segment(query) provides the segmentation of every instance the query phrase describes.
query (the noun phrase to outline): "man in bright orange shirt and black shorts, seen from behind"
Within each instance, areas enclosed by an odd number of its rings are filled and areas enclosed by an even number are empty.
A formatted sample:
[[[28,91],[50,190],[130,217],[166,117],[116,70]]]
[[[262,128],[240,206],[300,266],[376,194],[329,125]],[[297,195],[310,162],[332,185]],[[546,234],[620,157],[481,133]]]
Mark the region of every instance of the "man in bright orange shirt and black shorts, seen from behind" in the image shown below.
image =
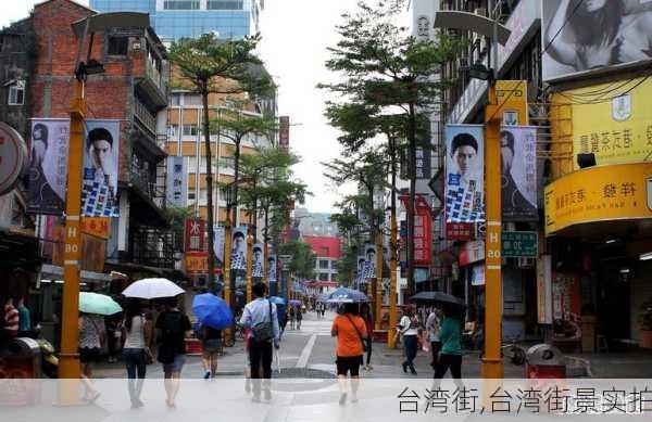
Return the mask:
[[[347,402],[347,373],[351,373],[351,402],[358,401],[360,366],[367,337],[365,322],[358,316],[358,304],[346,304],[343,312],[333,321],[330,335],[337,337],[337,378],[340,386],[340,405]]]

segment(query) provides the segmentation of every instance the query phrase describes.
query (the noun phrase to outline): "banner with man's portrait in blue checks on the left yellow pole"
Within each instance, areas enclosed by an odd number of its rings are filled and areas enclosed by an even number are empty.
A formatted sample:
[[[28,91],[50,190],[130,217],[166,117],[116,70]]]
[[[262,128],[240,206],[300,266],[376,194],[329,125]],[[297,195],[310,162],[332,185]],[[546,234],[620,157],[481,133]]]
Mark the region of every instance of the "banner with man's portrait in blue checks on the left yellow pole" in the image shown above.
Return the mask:
[[[120,120],[85,122],[82,215],[120,217],[117,165]]]

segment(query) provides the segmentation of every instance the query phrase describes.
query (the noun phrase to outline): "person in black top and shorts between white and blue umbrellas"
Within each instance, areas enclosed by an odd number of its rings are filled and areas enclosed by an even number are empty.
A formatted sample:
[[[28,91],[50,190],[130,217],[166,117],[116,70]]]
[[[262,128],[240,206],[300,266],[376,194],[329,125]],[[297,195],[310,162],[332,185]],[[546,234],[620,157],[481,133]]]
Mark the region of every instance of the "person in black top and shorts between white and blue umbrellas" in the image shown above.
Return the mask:
[[[164,385],[168,409],[176,409],[176,396],[179,393],[181,369],[186,362],[186,336],[190,336],[192,327],[186,314],[177,308],[176,297],[166,299],[165,309],[156,319],[155,329],[159,338],[159,361],[163,365]]]

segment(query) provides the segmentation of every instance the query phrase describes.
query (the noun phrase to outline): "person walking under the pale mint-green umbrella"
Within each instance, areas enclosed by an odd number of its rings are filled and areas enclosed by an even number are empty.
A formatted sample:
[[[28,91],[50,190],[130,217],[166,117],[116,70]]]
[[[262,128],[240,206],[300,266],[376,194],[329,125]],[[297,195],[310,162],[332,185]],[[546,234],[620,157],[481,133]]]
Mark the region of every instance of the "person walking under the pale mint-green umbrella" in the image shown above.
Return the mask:
[[[93,402],[100,397],[92,382],[92,365],[100,359],[102,346],[106,341],[106,329],[102,318],[89,314],[79,315],[79,361],[82,363],[82,383],[85,393],[83,401]]]

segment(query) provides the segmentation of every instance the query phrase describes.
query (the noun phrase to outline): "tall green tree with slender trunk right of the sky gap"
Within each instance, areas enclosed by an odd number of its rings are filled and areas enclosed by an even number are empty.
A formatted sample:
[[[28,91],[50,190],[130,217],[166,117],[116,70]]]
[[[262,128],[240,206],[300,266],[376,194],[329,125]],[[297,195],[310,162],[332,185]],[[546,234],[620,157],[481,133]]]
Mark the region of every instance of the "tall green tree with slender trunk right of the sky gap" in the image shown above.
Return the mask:
[[[343,23],[336,27],[341,40],[329,49],[331,59],[326,62],[326,67],[340,73],[343,80],[319,87],[339,95],[343,103],[376,107],[379,114],[398,111],[404,115],[410,178],[408,236],[412,239],[419,115],[432,113],[441,104],[441,91],[449,81],[434,75],[454,59],[464,44],[443,35],[436,41],[417,40],[409,28],[397,24],[406,2],[378,1],[368,5],[359,1],[355,14],[342,15]],[[414,245],[412,242],[408,245],[408,279],[412,292]]]

